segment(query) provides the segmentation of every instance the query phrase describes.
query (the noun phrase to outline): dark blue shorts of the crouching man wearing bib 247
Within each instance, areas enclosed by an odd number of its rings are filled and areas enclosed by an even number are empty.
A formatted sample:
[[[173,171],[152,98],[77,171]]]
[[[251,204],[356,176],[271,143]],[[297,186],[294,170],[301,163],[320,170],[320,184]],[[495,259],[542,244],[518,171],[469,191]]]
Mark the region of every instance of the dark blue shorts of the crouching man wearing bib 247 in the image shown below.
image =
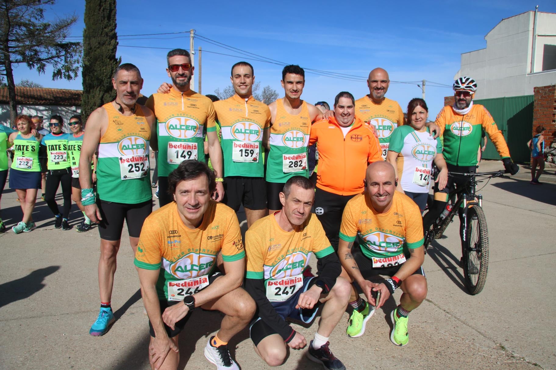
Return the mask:
[[[284,320],[287,318],[291,318],[293,320],[299,320],[304,323],[310,323],[313,321],[316,315],[316,311],[319,309],[320,302],[317,302],[313,308],[295,308],[297,306],[297,302],[299,302],[299,296],[301,293],[307,291],[310,288],[311,280],[315,278],[303,278],[303,286],[300,290],[295,292],[293,296],[288,298],[287,301],[284,302],[270,302],[272,307],[276,310],[276,313],[280,315]],[[257,346],[262,339],[266,338],[271,334],[277,334],[274,329],[272,329],[266,322],[262,320],[259,316],[255,316],[253,321],[251,321],[251,325],[249,326],[250,337],[255,346]]]

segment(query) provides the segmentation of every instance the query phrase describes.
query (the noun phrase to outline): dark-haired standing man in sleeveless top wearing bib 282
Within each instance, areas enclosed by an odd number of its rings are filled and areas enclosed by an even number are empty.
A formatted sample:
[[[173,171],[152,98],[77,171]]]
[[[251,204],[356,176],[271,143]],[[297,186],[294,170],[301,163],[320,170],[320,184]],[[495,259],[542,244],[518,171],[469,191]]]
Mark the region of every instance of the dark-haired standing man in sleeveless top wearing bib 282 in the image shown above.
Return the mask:
[[[280,192],[293,176],[309,177],[307,144],[311,124],[322,119],[322,112],[301,99],[305,87],[305,71],[299,65],[286,65],[282,70],[284,98],[269,104],[270,135],[266,163],[266,195],[269,215],[280,210]],[[314,166],[313,166],[314,167]]]

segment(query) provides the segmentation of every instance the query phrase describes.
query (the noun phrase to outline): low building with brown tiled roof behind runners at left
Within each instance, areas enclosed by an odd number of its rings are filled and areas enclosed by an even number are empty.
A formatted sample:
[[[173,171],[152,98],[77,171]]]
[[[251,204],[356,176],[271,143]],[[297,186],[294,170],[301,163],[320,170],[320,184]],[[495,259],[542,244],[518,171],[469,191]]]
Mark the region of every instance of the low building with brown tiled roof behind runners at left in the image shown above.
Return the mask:
[[[45,125],[51,115],[59,114],[69,132],[69,118],[81,114],[82,95],[81,90],[16,87],[17,114],[43,116]],[[9,125],[8,88],[0,89],[0,124]]]

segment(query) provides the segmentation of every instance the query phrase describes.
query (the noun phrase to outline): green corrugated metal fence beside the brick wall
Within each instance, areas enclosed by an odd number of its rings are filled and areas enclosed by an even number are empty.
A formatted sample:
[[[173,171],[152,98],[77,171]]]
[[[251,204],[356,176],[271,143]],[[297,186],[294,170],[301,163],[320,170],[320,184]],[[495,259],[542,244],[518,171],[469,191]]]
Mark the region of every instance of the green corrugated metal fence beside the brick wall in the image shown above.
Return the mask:
[[[498,128],[504,134],[512,159],[529,163],[531,153],[525,144],[531,138],[533,130],[533,95],[477,99],[473,100],[473,103],[484,105],[492,114]],[[483,152],[483,159],[500,159],[496,147],[490,140]]]

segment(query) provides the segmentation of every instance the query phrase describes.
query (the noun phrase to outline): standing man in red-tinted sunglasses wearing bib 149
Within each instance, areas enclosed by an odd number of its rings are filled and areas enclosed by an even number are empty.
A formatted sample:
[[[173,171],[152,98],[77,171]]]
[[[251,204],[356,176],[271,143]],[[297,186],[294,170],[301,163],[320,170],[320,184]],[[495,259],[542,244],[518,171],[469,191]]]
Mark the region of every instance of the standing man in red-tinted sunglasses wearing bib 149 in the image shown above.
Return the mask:
[[[166,85],[168,93],[152,94],[145,104],[156,116],[158,141],[158,202],[164,206],[173,200],[168,194],[168,174],[184,160],[205,162],[204,138],[208,139],[212,168],[216,171],[216,191],[213,199],[224,196],[222,185],[222,149],[216,134],[215,110],[210,98],[190,89],[195,69],[187,50],[173,49],[166,55],[166,73],[172,85]]]

